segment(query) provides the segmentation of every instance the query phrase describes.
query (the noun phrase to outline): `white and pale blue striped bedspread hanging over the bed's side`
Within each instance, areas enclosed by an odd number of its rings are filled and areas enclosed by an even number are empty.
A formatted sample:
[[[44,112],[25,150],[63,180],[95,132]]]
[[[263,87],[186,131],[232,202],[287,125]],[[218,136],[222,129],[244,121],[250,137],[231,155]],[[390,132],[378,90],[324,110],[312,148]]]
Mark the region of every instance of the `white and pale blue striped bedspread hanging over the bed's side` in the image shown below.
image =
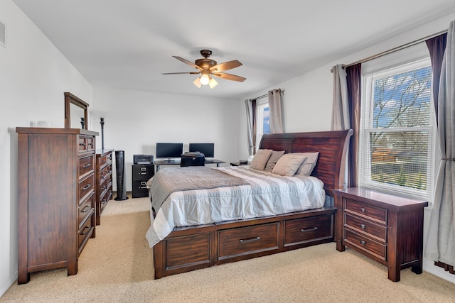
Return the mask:
[[[151,226],[146,233],[150,247],[176,226],[274,216],[324,205],[326,192],[316,177],[282,177],[249,166],[213,169],[241,177],[249,185],[173,192],[156,209],[155,218],[150,211]]]

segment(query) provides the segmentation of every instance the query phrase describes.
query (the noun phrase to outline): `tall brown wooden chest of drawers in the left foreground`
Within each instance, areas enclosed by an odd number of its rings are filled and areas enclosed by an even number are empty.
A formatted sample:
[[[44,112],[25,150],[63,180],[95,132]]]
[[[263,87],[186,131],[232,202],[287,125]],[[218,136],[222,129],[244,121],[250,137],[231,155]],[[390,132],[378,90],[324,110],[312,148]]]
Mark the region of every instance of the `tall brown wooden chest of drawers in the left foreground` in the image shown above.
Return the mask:
[[[68,268],[95,238],[95,136],[76,128],[18,133],[18,284],[30,272]]]

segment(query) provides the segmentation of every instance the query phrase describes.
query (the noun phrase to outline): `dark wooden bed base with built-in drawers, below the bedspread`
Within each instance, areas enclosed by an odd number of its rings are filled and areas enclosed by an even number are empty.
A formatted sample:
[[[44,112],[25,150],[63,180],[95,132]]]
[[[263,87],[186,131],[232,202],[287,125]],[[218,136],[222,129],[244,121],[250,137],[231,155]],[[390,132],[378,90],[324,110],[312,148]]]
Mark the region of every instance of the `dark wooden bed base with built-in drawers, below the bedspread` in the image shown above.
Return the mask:
[[[174,228],[154,246],[155,279],[333,242],[334,207]]]

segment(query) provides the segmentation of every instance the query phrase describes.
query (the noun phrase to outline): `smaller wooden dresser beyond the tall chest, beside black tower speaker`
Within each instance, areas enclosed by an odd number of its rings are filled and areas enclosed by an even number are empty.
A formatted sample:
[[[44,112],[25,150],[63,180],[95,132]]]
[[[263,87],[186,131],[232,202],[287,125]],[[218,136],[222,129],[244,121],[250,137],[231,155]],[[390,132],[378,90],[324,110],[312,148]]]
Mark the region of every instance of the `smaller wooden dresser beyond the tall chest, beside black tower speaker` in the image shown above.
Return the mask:
[[[105,209],[107,202],[112,199],[112,151],[97,150],[96,167],[96,221],[101,224],[101,213]]]

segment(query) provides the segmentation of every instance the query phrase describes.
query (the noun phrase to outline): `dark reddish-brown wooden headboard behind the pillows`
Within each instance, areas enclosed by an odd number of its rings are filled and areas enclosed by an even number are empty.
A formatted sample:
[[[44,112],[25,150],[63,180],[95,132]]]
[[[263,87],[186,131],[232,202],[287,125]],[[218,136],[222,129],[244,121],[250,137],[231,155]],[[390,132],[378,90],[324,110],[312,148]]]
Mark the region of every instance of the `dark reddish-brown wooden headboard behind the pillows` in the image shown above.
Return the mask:
[[[311,175],[324,183],[326,193],[343,188],[350,136],[348,131],[316,131],[310,133],[272,133],[262,136],[260,149],[285,150],[286,153],[319,152]]]

